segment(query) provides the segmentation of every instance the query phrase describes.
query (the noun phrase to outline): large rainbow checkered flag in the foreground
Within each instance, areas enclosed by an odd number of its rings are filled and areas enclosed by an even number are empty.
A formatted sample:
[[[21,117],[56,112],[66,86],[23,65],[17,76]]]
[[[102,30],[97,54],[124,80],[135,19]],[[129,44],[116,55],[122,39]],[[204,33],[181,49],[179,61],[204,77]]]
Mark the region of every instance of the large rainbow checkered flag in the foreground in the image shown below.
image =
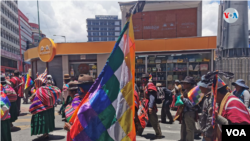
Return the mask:
[[[72,115],[73,141],[135,141],[134,73],[131,15],[101,74]]]

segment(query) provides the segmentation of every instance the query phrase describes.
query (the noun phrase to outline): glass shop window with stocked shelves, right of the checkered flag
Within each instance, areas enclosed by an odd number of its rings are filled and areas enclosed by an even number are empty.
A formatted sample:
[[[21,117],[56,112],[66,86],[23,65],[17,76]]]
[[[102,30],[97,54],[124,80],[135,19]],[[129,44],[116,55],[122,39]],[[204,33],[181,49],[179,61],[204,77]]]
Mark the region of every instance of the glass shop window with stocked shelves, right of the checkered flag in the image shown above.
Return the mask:
[[[175,80],[184,80],[192,76],[198,82],[200,77],[213,70],[212,52],[185,51],[173,53],[141,54],[136,56],[136,84],[141,87],[141,76],[152,75],[153,83],[173,88]]]

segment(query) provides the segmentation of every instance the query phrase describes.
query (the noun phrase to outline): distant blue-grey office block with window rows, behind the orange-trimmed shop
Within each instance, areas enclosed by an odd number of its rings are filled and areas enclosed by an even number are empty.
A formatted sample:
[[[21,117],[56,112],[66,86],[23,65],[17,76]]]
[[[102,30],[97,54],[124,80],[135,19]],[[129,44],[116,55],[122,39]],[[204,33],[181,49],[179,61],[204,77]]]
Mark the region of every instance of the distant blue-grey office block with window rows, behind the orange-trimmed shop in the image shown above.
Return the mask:
[[[88,42],[115,41],[121,32],[121,20],[118,16],[96,15],[87,19]]]

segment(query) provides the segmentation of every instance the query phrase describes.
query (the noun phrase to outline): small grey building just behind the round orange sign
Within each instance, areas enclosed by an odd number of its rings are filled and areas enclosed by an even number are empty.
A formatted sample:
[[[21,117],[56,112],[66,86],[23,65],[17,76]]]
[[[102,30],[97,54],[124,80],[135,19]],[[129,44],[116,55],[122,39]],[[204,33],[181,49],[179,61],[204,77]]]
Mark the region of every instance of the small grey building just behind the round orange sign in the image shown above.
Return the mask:
[[[32,43],[33,43],[33,47],[37,47],[39,45],[40,40],[42,40],[42,38],[45,38],[46,35],[42,33],[42,31],[40,30],[40,37],[41,39],[39,39],[39,26],[36,23],[29,23],[29,25],[31,26],[32,29]]]

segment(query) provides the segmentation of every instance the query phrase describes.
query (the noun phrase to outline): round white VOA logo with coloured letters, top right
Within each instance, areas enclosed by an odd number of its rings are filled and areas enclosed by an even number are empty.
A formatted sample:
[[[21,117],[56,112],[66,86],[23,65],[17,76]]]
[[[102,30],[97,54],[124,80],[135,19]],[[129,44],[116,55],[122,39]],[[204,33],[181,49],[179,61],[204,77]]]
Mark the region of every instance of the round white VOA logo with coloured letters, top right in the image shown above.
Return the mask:
[[[223,18],[228,23],[234,23],[239,18],[238,11],[234,8],[228,8],[224,11]]]

